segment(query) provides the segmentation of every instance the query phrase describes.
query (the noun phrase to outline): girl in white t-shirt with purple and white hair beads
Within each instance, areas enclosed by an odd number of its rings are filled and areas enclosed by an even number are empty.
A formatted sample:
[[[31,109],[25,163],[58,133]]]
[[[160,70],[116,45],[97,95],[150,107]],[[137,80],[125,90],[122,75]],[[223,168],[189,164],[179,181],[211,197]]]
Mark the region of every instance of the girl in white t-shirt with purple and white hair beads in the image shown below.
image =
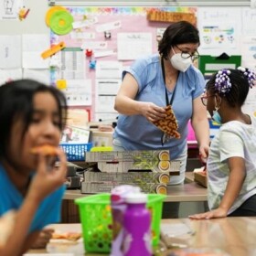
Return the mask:
[[[201,97],[213,120],[222,124],[208,155],[208,207],[190,219],[256,216],[256,118],[241,106],[256,74],[251,69],[221,69]]]

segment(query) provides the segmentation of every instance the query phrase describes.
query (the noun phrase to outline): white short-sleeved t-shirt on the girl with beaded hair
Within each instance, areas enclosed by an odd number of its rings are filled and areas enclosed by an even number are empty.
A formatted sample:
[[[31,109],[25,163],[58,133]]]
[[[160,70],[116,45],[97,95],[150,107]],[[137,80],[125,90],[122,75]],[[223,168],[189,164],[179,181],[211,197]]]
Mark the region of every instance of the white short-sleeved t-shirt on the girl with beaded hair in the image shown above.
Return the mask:
[[[224,123],[211,142],[208,155],[208,207],[219,208],[229,180],[228,158],[244,158],[246,177],[228,214],[256,194],[256,118],[251,124],[231,121]]]

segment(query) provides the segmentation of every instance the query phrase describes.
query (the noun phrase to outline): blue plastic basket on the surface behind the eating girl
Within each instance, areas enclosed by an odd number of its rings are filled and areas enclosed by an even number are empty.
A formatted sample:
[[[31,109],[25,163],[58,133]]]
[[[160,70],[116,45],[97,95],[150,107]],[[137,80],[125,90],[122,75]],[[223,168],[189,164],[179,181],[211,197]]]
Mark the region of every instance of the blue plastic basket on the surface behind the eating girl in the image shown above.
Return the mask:
[[[85,161],[85,151],[90,151],[93,144],[59,144],[67,155],[68,161]]]

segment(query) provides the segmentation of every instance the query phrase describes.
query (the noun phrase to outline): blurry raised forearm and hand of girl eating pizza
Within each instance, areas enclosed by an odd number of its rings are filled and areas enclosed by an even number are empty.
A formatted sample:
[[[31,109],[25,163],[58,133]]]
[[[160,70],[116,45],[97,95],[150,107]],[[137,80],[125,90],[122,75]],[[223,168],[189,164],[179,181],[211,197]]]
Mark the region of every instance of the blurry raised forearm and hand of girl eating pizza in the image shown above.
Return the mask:
[[[64,152],[58,149],[59,169],[49,169],[47,157],[38,155],[37,174],[28,188],[27,196],[16,212],[16,221],[12,232],[5,244],[0,247],[0,255],[16,256],[22,255],[27,249],[27,232],[35,217],[40,202],[56,188],[62,186],[67,173],[67,160]]]

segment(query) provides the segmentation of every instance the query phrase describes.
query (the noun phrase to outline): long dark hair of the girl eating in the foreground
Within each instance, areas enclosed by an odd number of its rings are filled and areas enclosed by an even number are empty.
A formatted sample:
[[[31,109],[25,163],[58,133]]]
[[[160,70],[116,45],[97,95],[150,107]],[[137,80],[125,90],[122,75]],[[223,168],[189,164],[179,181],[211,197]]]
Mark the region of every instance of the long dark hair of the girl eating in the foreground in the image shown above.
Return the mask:
[[[64,94],[53,86],[36,80],[14,80],[0,86],[0,156],[6,156],[11,130],[17,119],[24,121],[23,133],[32,120],[33,98],[37,92],[49,92],[57,101],[59,109],[59,130],[67,120],[67,101]]]

